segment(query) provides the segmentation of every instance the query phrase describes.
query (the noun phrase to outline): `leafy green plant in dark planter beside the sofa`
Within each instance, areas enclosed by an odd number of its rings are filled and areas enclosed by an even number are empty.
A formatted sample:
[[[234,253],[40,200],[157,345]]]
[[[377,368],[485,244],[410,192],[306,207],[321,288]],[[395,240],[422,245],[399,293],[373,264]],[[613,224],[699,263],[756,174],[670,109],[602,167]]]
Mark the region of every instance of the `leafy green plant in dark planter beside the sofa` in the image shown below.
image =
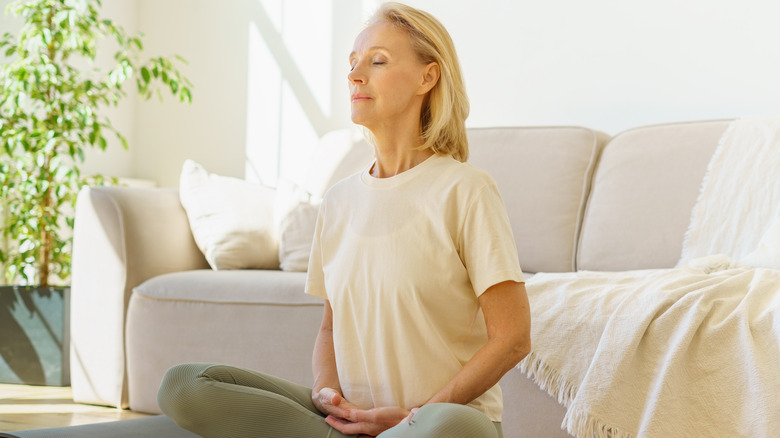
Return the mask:
[[[162,99],[163,89],[191,101],[191,83],[174,62],[183,60],[139,61],[140,36],[102,18],[100,7],[100,0],[25,0],[6,11],[24,23],[17,35],[0,38],[0,265],[14,285],[0,290],[0,355],[19,369],[31,368],[9,357],[9,333],[24,332],[10,326],[19,318],[13,312],[33,317],[43,306],[36,300],[52,297],[67,306],[67,289],[51,285],[67,285],[70,276],[76,196],[85,185],[108,182],[82,174],[84,151],[105,150],[110,135],[127,148],[105,109],[126,96],[123,84],[133,80],[146,99]],[[114,65],[105,69],[94,64],[101,39],[118,47]],[[62,312],[66,323],[67,308]],[[66,340],[59,342],[67,351]]]

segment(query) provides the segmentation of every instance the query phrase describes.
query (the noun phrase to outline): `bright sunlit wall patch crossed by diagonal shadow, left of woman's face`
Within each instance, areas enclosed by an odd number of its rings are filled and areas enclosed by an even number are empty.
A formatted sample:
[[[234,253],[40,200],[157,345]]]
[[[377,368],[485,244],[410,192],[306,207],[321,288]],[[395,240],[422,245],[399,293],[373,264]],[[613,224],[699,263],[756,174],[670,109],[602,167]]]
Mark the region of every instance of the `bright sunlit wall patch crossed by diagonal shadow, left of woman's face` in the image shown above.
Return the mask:
[[[319,137],[332,129],[333,3],[257,1],[249,23],[246,179],[300,182]]]

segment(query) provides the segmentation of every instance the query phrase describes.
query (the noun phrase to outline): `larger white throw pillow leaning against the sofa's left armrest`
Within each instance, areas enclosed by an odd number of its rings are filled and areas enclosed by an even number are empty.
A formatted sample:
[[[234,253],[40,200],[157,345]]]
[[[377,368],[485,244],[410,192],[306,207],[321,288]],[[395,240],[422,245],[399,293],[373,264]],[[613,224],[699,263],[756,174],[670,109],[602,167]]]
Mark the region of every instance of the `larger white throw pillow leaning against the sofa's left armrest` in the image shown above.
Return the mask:
[[[207,172],[187,160],[179,198],[212,269],[277,269],[275,190]]]

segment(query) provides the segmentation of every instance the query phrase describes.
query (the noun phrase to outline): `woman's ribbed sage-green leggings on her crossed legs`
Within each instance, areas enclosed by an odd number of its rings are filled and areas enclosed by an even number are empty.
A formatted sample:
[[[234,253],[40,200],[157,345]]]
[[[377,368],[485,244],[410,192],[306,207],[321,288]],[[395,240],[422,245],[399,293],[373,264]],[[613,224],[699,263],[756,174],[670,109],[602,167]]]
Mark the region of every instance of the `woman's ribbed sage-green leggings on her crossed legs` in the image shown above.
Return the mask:
[[[343,438],[325,423],[311,389],[227,365],[177,365],[165,374],[157,401],[179,426],[210,437]],[[351,436],[351,435],[350,435]],[[399,424],[381,438],[502,438],[501,423],[468,406],[424,406],[414,424]]]

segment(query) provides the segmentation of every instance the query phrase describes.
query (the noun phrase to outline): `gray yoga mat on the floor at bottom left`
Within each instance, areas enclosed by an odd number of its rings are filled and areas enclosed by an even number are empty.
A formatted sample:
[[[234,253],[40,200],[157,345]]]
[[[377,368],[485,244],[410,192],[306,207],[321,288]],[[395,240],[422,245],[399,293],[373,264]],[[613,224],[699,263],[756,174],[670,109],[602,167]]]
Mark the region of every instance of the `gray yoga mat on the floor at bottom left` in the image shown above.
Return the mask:
[[[83,426],[0,433],[0,438],[199,438],[165,415]]]

